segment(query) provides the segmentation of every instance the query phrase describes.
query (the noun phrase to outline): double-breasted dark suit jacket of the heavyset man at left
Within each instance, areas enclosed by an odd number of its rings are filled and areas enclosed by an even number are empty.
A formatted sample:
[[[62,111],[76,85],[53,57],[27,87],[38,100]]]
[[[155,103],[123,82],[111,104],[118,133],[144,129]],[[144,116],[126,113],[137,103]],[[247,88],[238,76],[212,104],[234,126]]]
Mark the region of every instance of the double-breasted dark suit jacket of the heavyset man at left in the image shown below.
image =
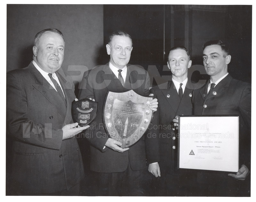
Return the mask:
[[[61,128],[73,123],[74,84],[56,72],[66,104],[35,68],[7,73],[7,129],[13,137],[12,178],[19,190],[51,193],[69,189],[84,177],[76,138],[62,141]]]

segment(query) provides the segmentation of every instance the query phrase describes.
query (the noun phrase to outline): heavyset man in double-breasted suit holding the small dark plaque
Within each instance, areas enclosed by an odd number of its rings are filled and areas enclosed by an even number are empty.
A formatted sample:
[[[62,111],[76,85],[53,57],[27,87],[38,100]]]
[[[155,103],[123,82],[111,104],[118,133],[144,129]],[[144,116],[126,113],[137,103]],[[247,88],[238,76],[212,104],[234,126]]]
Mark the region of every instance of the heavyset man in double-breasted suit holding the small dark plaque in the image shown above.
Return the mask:
[[[59,30],[38,32],[33,61],[7,73],[14,195],[79,195],[84,170],[74,136],[89,126],[72,121],[76,97],[71,77],[61,69],[64,47]]]

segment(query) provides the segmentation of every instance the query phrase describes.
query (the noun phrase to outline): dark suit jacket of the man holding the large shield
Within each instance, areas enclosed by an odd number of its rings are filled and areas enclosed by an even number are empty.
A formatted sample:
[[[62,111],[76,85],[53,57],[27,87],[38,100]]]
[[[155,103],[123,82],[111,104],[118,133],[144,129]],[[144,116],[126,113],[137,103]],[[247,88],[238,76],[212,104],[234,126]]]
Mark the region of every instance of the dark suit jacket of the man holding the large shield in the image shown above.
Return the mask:
[[[84,73],[82,83],[80,85],[79,99],[94,98],[98,102],[98,113],[91,124],[90,129],[86,130],[86,138],[91,144],[90,158],[91,170],[96,172],[123,172],[127,169],[129,160],[132,170],[142,170],[146,168],[146,146],[150,149],[147,156],[148,163],[157,161],[151,156],[153,149],[157,146],[153,139],[148,139],[145,135],[136,142],[128,151],[123,153],[113,151],[110,148],[104,148],[108,135],[103,124],[103,105],[106,94],[112,92],[125,92],[134,90],[140,95],[149,94],[149,77],[145,69],[133,65],[127,65],[127,76],[124,87],[109,68],[108,64],[101,65],[95,69]],[[93,127],[92,127],[93,126]]]

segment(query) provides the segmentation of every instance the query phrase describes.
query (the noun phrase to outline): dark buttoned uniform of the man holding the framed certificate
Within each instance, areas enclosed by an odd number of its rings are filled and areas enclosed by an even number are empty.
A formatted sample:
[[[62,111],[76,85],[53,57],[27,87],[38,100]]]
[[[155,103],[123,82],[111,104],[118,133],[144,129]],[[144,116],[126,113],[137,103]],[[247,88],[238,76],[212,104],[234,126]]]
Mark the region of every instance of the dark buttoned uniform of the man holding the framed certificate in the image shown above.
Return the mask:
[[[193,92],[195,115],[237,115],[240,114],[240,166],[245,164],[250,170],[251,162],[251,85],[226,76],[214,90],[216,95],[207,96],[209,82]],[[215,94],[215,93],[214,93]],[[215,184],[217,191],[209,189],[203,195],[247,196],[250,194],[250,178],[236,181],[227,173],[198,173],[199,183]],[[204,185],[205,186],[205,185]],[[207,185],[206,185],[207,186]],[[219,190],[218,190],[219,189]]]

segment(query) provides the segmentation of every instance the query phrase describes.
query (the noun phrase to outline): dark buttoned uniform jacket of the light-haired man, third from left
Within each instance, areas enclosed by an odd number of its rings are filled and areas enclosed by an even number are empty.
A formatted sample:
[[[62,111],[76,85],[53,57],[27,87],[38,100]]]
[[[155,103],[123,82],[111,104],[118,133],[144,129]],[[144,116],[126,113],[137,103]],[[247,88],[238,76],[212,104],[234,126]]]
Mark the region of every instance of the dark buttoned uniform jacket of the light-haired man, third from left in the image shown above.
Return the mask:
[[[178,131],[172,130],[172,119],[177,115],[192,115],[192,92],[195,88],[196,85],[188,82],[181,100],[172,81],[151,89],[158,100],[158,109],[148,133],[155,133],[160,137],[159,166],[161,172],[177,174]]]

